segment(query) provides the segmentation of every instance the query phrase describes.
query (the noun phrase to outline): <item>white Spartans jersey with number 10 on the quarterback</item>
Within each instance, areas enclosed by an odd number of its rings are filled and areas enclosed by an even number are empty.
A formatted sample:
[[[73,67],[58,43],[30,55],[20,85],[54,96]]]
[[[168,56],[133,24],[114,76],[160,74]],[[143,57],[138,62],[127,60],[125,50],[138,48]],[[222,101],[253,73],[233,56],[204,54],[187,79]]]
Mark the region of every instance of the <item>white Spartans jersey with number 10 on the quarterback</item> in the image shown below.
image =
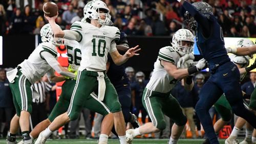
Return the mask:
[[[115,41],[120,38],[118,28],[111,26],[97,28],[91,23],[76,21],[72,24],[70,30],[76,31],[82,36],[82,39],[78,41],[82,53],[79,70],[106,70],[108,53],[117,50]]]

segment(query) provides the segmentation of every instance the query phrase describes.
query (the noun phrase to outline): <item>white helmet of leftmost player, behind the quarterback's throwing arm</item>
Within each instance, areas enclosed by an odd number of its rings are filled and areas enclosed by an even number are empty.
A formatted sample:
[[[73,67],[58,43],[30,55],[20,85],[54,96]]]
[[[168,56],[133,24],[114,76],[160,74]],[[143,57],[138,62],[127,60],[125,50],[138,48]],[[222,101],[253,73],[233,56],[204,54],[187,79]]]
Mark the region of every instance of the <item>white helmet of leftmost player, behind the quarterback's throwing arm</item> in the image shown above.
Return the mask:
[[[63,38],[55,38],[52,32],[51,26],[47,23],[40,30],[42,42],[51,42],[52,44],[59,46],[63,45]]]

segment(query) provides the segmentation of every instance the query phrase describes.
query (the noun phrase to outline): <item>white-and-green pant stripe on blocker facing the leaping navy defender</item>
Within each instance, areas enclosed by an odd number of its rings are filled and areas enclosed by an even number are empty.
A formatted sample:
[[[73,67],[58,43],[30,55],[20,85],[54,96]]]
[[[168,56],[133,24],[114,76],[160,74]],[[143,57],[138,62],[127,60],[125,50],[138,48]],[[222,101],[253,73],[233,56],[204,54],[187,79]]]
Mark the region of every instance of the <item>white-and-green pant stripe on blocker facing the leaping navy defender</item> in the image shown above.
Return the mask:
[[[146,89],[144,101],[145,101],[145,104],[146,104],[146,109],[147,109],[148,115],[150,116],[153,125],[154,125],[155,127],[157,127],[157,118],[156,118],[156,116],[154,115],[154,111],[153,111],[153,108],[152,108],[151,102],[150,102],[150,96],[151,96],[151,94],[152,94],[152,91],[149,90],[149,89]]]

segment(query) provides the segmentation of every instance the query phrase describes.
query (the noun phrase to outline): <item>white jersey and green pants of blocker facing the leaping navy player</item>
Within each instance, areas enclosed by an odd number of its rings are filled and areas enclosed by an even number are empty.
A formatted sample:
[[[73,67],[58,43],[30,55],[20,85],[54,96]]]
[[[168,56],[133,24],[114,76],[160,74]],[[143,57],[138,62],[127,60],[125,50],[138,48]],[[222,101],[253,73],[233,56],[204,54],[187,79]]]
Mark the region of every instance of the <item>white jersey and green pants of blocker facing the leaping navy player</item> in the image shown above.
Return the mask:
[[[153,125],[160,130],[166,126],[164,114],[172,118],[178,126],[183,126],[187,122],[178,101],[170,94],[178,80],[170,76],[161,65],[161,60],[177,65],[179,58],[179,54],[171,46],[160,49],[152,77],[143,91],[143,106]]]

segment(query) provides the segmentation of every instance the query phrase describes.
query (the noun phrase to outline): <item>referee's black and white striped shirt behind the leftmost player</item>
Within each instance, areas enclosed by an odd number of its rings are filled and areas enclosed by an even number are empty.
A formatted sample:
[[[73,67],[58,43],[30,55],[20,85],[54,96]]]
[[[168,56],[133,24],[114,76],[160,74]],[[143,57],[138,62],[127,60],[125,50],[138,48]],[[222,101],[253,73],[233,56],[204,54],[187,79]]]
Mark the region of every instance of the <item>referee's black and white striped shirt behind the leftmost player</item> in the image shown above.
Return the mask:
[[[48,84],[47,82],[36,82],[33,84],[34,89],[39,93],[40,97],[38,99],[38,101],[36,101],[36,99],[33,99],[32,102],[33,103],[44,103],[46,100],[46,94],[49,93],[51,91],[52,86],[50,84]]]

